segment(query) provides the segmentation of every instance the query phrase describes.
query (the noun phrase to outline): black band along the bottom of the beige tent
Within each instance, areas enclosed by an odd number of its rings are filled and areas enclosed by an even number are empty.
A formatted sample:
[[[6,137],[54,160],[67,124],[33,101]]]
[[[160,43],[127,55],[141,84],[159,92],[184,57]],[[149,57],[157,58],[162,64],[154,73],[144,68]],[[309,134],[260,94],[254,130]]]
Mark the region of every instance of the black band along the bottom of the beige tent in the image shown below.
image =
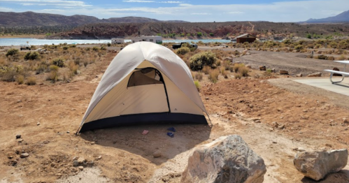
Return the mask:
[[[95,129],[106,129],[117,126],[131,126],[142,124],[208,124],[204,115],[193,115],[187,113],[145,113],[134,115],[121,115],[108,117],[83,124],[80,132]]]

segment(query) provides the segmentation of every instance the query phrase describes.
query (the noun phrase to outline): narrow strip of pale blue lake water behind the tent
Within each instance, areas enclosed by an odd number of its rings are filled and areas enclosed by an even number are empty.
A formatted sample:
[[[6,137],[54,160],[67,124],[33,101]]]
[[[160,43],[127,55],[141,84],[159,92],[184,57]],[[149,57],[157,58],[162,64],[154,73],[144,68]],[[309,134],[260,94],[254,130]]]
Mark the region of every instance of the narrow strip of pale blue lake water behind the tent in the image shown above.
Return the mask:
[[[27,41],[29,42],[29,45],[59,45],[60,43],[67,43],[67,44],[96,44],[96,43],[111,43],[110,39],[37,39],[37,38],[0,38],[0,46],[5,45],[22,45],[27,44]],[[124,40],[125,43],[131,42],[131,40]],[[219,42],[219,43],[229,43],[230,40],[223,40],[223,39],[200,39],[200,40],[189,40],[189,39],[178,39],[178,40],[163,40],[163,43],[181,43],[181,42],[193,42],[197,43],[199,41],[202,41],[204,43],[211,43],[211,42]]]

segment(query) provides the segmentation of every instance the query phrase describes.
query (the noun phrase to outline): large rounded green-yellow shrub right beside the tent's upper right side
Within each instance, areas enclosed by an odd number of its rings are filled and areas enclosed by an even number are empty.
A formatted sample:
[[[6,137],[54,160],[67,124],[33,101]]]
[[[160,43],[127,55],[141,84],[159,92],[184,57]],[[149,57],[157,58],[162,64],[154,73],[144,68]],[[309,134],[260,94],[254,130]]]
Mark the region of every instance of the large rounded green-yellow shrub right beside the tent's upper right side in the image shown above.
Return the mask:
[[[216,61],[213,52],[201,52],[190,57],[190,69],[192,71],[201,71],[204,66],[212,66]]]

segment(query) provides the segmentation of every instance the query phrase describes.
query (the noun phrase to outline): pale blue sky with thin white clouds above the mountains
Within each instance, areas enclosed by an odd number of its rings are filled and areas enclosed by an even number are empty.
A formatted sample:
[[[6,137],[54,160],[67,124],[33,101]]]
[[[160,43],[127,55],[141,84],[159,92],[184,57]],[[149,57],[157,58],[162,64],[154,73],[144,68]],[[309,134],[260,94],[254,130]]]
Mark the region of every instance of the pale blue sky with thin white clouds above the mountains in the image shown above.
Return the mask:
[[[189,22],[299,22],[338,15],[349,10],[349,0],[0,0],[0,11],[29,10],[99,18],[137,16]]]

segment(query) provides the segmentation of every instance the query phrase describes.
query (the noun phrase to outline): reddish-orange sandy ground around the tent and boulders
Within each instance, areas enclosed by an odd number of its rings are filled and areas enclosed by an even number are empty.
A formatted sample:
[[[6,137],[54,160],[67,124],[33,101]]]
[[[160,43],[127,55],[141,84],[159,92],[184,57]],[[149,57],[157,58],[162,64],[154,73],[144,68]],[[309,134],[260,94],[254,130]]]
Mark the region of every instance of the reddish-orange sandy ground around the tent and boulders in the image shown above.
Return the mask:
[[[194,147],[230,134],[242,136],[264,159],[264,182],[313,182],[294,168],[294,148],[348,148],[348,96],[281,76],[203,82],[200,94],[213,126],[123,126],[76,136],[100,75],[55,85],[0,82],[1,183],[179,182]],[[174,138],[166,136],[170,126]],[[162,156],[154,158],[155,151]],[[29,157],[21,159],[22,152]],[[73,167],[80,157],[87,162],[83,170]],[[320,182],[349,182],[348,173],[347,166]]]

